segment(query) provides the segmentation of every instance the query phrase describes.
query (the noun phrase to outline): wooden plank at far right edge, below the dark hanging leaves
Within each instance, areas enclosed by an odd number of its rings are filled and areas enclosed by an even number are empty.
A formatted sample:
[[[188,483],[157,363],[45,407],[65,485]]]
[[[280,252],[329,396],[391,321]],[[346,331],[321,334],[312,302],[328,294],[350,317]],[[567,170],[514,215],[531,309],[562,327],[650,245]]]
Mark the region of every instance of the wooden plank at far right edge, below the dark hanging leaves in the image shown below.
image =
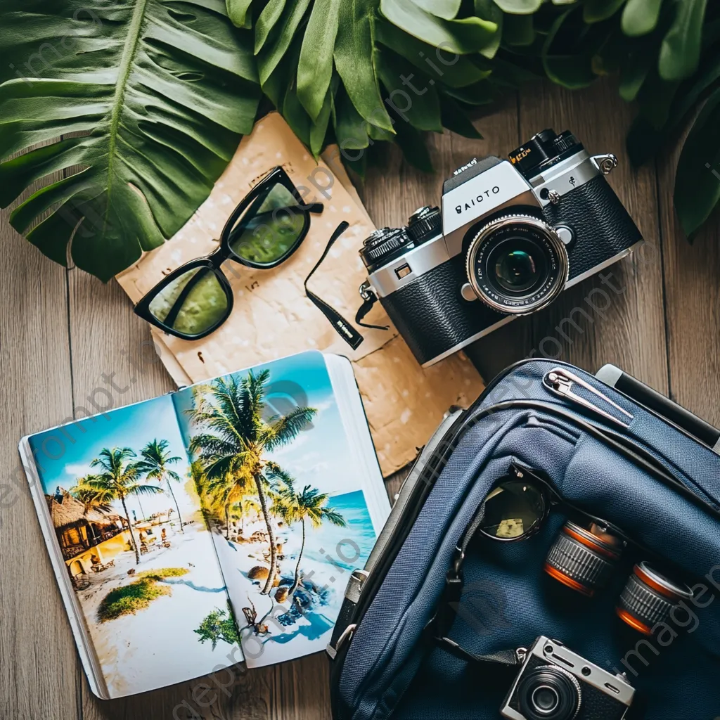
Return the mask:
[[[658,163],[670,397],[720,428],[720,218],[685,239],[672,207],[680,149]]]

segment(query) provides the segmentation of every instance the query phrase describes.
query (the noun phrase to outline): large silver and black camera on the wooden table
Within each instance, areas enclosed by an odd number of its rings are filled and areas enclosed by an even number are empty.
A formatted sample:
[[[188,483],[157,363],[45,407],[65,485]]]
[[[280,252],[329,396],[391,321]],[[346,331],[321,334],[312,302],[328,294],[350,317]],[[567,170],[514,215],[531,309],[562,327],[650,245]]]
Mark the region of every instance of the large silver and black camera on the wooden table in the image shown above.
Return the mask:
[[[423,367],[545,307],[642,242],[604,177],[616,163],[552,130],[510,161],[472,160],[444,182],[442,212],[365,240],[362,297],[380,300]]]

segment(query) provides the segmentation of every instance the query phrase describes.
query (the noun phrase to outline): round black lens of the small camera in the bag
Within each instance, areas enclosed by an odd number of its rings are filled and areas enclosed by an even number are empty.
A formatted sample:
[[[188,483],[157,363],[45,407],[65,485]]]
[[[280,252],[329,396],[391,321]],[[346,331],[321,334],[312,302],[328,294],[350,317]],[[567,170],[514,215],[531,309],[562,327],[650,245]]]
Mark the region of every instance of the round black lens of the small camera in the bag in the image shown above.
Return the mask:
[[[518,685],[518,704],[527,720],[572,720],[580,710],[580,683],[554,665],[531,670]]]

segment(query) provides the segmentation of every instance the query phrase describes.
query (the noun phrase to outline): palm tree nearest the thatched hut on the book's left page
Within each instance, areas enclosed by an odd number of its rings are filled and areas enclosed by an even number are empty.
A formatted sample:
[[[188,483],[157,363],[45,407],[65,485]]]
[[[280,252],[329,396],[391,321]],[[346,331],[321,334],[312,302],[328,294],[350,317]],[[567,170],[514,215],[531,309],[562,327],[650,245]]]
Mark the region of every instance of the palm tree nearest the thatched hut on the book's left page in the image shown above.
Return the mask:
[[[163,492],[163,489],[156,485],[145,485],[138,482],[138,470],[132,462],[136,457],[135,451],[130,448],[103,448],[99,456],[90,463],[90,466],[96,467],[99,473],[84,478],[78,492],[94,492],[98,502],[107,504],[114,500],[120,500],[127,527],[130,529],[132,549],[135,550],[135,564],[140,564],[140,551],[138,543],[135,541],[135,533],[132,531],[132,522],[127,512],[125,498],[130,495],[155,495]]]

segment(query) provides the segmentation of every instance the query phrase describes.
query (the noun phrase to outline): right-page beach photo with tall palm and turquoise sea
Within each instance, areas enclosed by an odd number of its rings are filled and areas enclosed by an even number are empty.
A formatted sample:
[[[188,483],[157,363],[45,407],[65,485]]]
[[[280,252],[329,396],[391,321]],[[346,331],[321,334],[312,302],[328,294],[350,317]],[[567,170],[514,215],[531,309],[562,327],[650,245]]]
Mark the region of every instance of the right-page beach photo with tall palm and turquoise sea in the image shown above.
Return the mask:
[[[176,394],[248,666],[324,649],[376,539],[323,356]]]

